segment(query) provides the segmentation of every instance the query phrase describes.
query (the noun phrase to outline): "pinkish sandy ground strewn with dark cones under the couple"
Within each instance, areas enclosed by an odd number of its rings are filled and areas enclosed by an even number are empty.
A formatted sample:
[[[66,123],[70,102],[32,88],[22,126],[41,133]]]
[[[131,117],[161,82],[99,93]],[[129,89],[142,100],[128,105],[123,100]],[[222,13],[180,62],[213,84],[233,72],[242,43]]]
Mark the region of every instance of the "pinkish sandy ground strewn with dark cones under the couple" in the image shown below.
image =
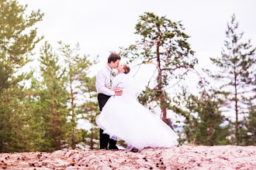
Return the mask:
[[[0,169],[256,169],[256,146],[2,153]]]

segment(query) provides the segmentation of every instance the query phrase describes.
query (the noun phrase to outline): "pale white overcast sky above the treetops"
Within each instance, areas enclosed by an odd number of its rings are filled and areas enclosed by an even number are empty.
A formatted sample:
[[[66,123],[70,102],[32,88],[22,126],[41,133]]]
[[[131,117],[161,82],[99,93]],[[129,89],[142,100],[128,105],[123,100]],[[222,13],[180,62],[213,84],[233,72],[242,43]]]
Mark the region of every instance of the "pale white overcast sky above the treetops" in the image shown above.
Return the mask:
[[[28,10],[40,9],[43,21],[36,24],[40,36],[54,47],[57,41],[74,45],[79,42],[81,53],[99,56],[100,63],[107,62],[110,51],[133,44],[135,25],[144,12],[165,15],[171,21],[182,21],[185,33],[195,56],[197,68],[212,68],[209,57],[220,56],[227,22],[237,16],[244,39],[256,44],[256,0],[19,0]],[[43,41],[44,41],[43,40]],[[40,43],[43,43],[40,42]],[[37,46],[36,50],[40,46]],[[97,68],[92,74],[97,73]],[[138,73],[143,84],[150,79],[147,69]],[[151,70],[152,71],[152,70]],[[142,78],[141,78],[142,77]]]

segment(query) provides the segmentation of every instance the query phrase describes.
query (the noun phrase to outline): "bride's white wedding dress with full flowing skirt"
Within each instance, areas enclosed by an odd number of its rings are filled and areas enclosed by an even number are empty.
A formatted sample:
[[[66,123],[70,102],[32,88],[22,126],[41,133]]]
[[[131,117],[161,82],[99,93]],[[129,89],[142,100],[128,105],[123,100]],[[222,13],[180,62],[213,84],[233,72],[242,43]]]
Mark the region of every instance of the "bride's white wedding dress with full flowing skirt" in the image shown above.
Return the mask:
[[[126,141],[138,150],[146,147],[169,148],[178,145],[178,135],[160,117],[137,101],[136,82],[132,76],[121,73],[112,87],[123,87],[122,96],[112,96],[96,117],[96,123],[109,138]]]

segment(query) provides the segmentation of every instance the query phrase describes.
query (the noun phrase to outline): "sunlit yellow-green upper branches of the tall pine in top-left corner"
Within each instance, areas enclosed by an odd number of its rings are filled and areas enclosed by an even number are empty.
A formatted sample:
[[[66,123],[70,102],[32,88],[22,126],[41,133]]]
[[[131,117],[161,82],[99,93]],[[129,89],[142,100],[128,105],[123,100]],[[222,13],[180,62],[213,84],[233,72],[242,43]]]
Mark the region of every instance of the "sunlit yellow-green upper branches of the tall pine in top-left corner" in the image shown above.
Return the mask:
[[[42,20],[43,14],[31,12],[25,15],[26,6],[12,0],[0,1],[0,92],[9,87],[8,78],[24,66],[29,59],[24,54],[34,49],[37,38],[34,25]]]

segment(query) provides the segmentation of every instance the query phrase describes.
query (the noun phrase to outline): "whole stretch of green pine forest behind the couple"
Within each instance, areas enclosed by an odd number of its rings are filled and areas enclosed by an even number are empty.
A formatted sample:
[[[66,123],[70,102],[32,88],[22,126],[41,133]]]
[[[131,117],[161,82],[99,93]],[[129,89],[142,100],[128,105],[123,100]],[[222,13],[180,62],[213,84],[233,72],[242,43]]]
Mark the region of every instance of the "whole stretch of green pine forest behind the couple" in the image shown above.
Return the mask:
[[[99,104],[95,75],[89,75],[99,59],[82,54],[79,43],[60,41],[54,48],[38,36],[38,22],[40,10],[27,15],[26,5],[0,0],[0,152],[99,149]],[[196,51],[182,22],[152,12],[138,16],[134,34],[140,39],[117,52],[138,67],[155,67],[154,86],[144,87],[138,100],[150,110],[160,108],[180,145],[256,145],[256,47],[238,28],[232,15],[223,50],[211,58],[217,69],[203,75],[195,70]],[[40,53],[33,53],[39,42]],[[37,69],[24,69],[35,59]],[[199,77],[196,94],[179,83],[191,72]],[[171,81],[178,93],[170,93]],[[182,125],[167,110],[184,117]],[[80,119],[89,130],[78,128]]]

